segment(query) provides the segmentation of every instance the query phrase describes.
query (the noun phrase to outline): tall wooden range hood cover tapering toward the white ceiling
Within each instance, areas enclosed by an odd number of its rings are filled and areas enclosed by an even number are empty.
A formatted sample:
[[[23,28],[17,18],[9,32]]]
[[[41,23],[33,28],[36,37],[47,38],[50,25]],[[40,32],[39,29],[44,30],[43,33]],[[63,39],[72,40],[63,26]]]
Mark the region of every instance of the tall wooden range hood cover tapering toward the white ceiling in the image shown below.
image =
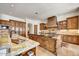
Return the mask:
[[[56,16],[52,16],[47,19],[47,27],[48,28],[57,27],[57,17]]]

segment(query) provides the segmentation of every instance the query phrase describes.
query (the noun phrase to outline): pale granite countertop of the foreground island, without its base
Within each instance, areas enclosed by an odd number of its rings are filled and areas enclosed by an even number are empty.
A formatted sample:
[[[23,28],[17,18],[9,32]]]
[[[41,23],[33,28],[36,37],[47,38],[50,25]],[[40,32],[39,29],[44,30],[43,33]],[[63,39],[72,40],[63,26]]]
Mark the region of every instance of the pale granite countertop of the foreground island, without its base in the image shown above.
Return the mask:
[[[29,38],[25,38],[22,36],[18,36],[18,38],[25,39],[25,41],[23,43],[20,43],[20,44],[12,43],[11,52],[8,55],[11,55],[11,56],[18,55],[24,51],[28,51],[28,50],[40,45],[38,42],[33,41]]]

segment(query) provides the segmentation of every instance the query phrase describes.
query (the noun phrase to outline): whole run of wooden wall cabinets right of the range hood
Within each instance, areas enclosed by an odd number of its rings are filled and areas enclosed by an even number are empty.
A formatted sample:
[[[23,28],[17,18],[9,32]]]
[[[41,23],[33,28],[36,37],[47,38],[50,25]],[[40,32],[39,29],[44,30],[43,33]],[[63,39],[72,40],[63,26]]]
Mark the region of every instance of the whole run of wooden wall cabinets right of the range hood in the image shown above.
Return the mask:
[[[58,28],[61,29],[79,29],[79,16],[68,17],[66,20],[58,22]]]

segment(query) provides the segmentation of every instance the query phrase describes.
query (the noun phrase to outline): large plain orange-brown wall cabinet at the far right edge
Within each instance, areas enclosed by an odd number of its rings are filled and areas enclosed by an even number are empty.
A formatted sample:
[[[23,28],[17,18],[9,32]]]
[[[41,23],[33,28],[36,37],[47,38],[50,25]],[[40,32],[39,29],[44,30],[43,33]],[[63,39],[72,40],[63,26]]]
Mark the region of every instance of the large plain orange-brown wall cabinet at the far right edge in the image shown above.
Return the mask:
[[[67,29],[78,29],[79,17],[69,17],[67,18]]]

